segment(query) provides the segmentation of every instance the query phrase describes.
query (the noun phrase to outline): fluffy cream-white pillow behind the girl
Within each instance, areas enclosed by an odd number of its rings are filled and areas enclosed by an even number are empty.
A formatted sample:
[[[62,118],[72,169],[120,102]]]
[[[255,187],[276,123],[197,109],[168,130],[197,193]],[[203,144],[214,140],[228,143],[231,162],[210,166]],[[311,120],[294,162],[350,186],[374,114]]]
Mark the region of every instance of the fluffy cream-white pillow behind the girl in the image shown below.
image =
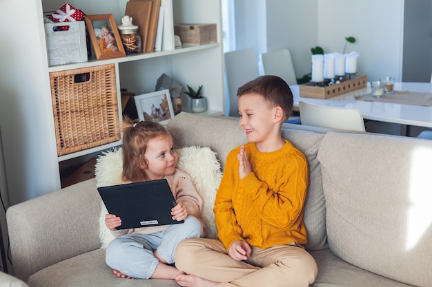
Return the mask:
[[[216,153],[208,147],[184,147],[177,149],[179,161],[177,167],[190,175],[195,183],[197,192],[201,196],[204,206],[202,219],[206,224],[208,238],[217,238],[213,204],[217,188],[222,178],[220,162]],[[103,153],[97,158],[95,176],[97,187],[106,187],[121,183],[121,148]],[[104,202],[101,201],[99,217],[99,239],[101,247],[106,247],[115,237],[105,225],[105,215],[108,213]]]

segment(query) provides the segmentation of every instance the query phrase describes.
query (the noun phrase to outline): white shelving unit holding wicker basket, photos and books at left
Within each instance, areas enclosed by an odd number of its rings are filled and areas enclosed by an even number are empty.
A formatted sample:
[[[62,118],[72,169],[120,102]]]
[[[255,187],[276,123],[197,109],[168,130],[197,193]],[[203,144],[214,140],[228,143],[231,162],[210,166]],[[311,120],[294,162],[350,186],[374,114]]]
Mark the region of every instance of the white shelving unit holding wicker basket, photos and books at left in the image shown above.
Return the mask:
[[[68,3],[90,14],[113,14],[117,25],[124,16],[127,0],[70,0]],[[163,73],[186,85],[204,85],[208,111],[224,114],[224,68],[222,16],[219,0],[162,0],[173,8],[168,23],[217,23],[219,43],[184,45],[146,54],[86,63],[48,67],[43,12],[57,10],[63,0],[2,0],[0,23],[3,29],[0,67],[0,124],[5,154],[10,204],[16,204],[61,187],[59,164],[67,160],[116,147],[121,140],[64,156],[57,156],[50,72],[115,64],[119,117],[120,89],[153,92]],[[19,19],[17,19],[17,15]],[[165,14],[165,17],[170,14]],[[167,22],[165,22],[167,23]],[[164,31],[172,33],[173,28]],[[173,35],[168,35],[173,36]],[[6,44],[6,45],[5,45]]]

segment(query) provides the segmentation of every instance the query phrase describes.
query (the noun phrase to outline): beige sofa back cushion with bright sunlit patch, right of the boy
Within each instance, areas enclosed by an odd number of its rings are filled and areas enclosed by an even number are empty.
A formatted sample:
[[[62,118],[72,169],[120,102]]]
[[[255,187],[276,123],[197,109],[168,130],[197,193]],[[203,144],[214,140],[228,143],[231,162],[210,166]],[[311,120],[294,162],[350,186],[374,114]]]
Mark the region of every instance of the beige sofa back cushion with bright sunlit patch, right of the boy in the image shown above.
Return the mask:
[[[431,286],[432,141],[331,132],[318,160],[331,250],[373,273]]]

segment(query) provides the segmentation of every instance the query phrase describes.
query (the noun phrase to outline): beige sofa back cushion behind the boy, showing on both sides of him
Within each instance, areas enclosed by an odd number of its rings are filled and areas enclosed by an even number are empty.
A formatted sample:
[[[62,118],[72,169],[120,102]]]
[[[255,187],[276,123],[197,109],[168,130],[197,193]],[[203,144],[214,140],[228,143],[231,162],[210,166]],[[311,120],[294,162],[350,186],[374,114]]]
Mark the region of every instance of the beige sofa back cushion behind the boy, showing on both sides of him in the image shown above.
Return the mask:
[[[191,129],[190,127],[193,127]],[[293,128],[296,129],[293,129]],[[222,170],[228,153],[247,142],[246,134],[239,127],[237,118],[221,118],[180,113],[168,123],[168,130],[179,147],[200,145],[218,153]],[[326,248],[326,209],[322,191],[320,164],[317,149],[327,129],[304,131],[298,125],[284,124],[282,136],[300,149],[309,164],[309,188],[304,207],[304,222],[308,230],[308,250]],[[321,132],[321,133],[320,133]]]

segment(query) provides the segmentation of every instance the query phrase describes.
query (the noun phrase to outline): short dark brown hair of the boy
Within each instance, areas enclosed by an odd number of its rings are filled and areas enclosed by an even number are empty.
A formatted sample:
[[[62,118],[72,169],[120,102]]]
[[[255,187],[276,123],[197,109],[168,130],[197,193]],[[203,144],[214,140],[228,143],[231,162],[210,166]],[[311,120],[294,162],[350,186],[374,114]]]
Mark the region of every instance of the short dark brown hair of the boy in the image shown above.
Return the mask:
[[[293,109],[293,92],[282,78],[273,75],[259,76],[237,89],[237,97],[249,93],[260,94],[271,107],[282,107],[284,121],[290,116]]]

